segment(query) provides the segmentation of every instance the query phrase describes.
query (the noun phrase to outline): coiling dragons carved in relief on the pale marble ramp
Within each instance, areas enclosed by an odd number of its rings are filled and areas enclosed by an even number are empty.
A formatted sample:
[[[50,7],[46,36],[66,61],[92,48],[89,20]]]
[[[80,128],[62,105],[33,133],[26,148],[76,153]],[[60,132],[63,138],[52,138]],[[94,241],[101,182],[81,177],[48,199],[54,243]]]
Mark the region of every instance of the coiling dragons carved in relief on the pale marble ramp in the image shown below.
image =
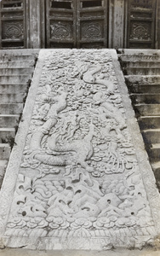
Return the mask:
[[[103,74],[100,74],[98,78],[95,77],[94,75],[96,73],[99,73],[100,70],[100,65],[98,65],[97,67],[91,66],[88,68],[88,70],[83,71],[83,75],[81,74],[81,76],[83,78],[83,81],[87,84],[105,85],[106,94],[110,95],[114,91],[115,84],[113,84],[113,82],[111,82],[110,80],[104,79]],[[52,99],[50,97],[50,90],[49,96],[45,96],[45,100],[47,99]],[[49,131],[51,131],[51,129],[54,129],[54,127],[58,123],[58,118],[60,118],[60,113],[63,113],[67,108],[67,92],[60,87],[57,90],[57,96],[54,96],[53,101],[54,104],[52,104],[49,108],[46,121],[38,131],[35,131],[32,134],[30,143],[30,163],[32,160],[34,164],[35,162],[37,162],[37,165],[43,163],[49,166],[71,166],[71,168],[72,166],[79,164],[86,171],[93,172],[94,168],[92,166],[89,166],[86,162],[86,160],[89,160],[94,154],[92,139],[94,136],[96,136],[96,127],[92,123],[92,119],[90,120],[90,124],[88,123],[88,133],[85,134],[82,139],[74,139],[73,141],[69,142],[65,141],[65,143],[60,145],[57,134],[54,133],[52,136],[49,136]],[[120,124],[121,129],[123,129],[124,124],[122,123],[122,114],[119,114],[119,116],[117,116],[117,109],[112,107],[111,104],[103,102],[102,96],[99,92],[97,92],[93,96],[93,101],[95,102],[95,104],[96,102],[100,103],[100,108],[98,108],[98,110],[92,110],[94,113],[98,112],[100,119],[103,119],[102,116],[104,116],[105,114],[105,119],[108,116],[113,117],[117,120],[117,123]],[[72,121],[73,123],[75,123],[76,119],[72,119]],[[73,128],[72,134],[70,134],[68,138],[71,138],[71,135],[74,134],[74,132],[77,130],[77,127],[78,125],[76,126],[76,128]],[[48,150],[42,149],[41,144],[44,136],[48,136]]]

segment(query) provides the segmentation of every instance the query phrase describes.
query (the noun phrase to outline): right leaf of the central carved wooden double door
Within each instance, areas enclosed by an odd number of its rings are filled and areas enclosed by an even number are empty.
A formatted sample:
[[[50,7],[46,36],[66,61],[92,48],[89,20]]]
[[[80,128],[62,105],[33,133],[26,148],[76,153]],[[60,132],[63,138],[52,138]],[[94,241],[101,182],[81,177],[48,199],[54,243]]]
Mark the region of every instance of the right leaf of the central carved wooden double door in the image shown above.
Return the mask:
[[[107,1],[77,1],[77,48],[107,47]]]

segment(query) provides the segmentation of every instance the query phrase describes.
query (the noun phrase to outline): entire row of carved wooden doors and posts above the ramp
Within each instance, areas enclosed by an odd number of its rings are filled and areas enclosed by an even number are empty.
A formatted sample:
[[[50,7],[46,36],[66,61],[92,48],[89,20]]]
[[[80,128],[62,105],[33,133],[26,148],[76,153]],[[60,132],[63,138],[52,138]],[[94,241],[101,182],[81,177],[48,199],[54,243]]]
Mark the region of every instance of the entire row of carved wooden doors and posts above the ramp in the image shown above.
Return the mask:
[[[154,49],[159,1],[0,0],[0,48]]]

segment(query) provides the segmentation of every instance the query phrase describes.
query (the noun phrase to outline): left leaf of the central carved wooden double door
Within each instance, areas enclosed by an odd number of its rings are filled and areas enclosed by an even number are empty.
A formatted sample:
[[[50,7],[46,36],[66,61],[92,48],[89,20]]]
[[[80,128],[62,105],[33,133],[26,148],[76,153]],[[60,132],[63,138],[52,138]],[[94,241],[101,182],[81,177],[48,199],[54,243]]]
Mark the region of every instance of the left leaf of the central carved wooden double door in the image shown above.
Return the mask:
[[[47,1],[47,47],[76,47],[76,4],[73,0]]]

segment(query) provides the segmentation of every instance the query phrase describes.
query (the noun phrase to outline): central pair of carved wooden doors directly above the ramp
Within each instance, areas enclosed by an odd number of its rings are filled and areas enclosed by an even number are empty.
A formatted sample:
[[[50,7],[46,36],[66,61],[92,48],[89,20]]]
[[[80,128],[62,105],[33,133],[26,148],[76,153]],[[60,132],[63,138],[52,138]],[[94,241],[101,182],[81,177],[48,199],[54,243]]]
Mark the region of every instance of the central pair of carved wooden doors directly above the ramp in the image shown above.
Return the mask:
[[[107,0],[48,0],[48,48],[107,47]]]

